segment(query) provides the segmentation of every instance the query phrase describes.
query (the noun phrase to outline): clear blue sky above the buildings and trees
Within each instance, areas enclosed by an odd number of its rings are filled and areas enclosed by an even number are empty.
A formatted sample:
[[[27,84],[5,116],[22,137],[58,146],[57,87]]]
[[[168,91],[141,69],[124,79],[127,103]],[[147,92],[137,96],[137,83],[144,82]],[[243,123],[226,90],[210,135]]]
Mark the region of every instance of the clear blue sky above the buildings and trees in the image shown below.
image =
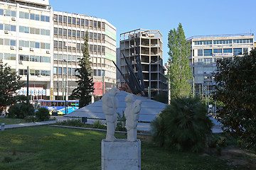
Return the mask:
[[[256,33],[256,0],[49,0],[55,11],[104,18],[119,35],[144,28],[160,30],[167,62],[169,30],[181,23],[186,38],[194,35]]]

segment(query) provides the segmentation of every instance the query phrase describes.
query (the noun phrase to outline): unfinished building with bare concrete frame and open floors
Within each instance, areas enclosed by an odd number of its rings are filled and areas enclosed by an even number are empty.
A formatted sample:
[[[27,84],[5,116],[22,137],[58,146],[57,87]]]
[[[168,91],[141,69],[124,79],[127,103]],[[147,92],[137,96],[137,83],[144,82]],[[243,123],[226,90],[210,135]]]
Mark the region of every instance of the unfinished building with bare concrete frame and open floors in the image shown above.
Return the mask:
[[[151,98],[160,92],[167,93],[163,66],[163,36],[159,30],[137,29],[122,33],[118,51],[117,65],[125,77],[128,77],[128,74],[124,56],[132,64],[135,74],[138,71],[137,57],[141,60],[146,96]],[[125,82],[119,72],[117,72],[117,81],[118,86],[122,86]]]

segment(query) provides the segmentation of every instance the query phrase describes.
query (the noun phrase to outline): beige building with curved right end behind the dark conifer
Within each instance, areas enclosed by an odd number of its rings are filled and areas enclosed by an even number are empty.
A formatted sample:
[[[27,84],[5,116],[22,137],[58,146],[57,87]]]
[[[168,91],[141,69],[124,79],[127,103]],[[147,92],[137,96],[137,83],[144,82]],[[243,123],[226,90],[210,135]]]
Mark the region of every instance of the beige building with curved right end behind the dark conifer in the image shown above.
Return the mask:
[[[53,12],[53,95],[63,99],[76,88],[75,77],[82,57],[83,38],[89,35],[90,61],[92,62],[95,96],[102,96],[116,84],[116,28],[105,19],[76,13]],[[67,79],[68,76],[68,79]],[[66,83],[68,82],[68,83]],[[104,84],[104,85],[103,85]],[[65,95],[68,87],[67,95]],[[70,99],[70,98],[69,98]]]

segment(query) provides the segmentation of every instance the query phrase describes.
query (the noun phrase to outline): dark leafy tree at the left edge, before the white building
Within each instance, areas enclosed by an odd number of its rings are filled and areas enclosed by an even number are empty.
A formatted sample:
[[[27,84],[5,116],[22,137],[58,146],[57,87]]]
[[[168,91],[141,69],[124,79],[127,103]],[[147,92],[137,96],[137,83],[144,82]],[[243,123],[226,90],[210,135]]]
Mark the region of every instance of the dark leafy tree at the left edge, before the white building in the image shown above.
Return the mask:
[[[11,67],[7,64],[0,64],[0,112],[6,106],[19,100],[16,91],[24,86],[20,79],[21,77],[16,72],[11,72]]]

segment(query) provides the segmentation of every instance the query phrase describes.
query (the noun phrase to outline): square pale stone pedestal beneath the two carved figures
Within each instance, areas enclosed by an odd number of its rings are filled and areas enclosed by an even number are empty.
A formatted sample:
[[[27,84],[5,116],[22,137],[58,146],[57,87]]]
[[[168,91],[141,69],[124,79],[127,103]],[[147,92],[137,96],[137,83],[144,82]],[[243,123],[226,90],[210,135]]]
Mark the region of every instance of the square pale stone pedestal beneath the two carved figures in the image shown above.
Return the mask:
[[[102,140],[102,170],[140,170],[141,142],[127,142],[119,139],[115,142]]]

